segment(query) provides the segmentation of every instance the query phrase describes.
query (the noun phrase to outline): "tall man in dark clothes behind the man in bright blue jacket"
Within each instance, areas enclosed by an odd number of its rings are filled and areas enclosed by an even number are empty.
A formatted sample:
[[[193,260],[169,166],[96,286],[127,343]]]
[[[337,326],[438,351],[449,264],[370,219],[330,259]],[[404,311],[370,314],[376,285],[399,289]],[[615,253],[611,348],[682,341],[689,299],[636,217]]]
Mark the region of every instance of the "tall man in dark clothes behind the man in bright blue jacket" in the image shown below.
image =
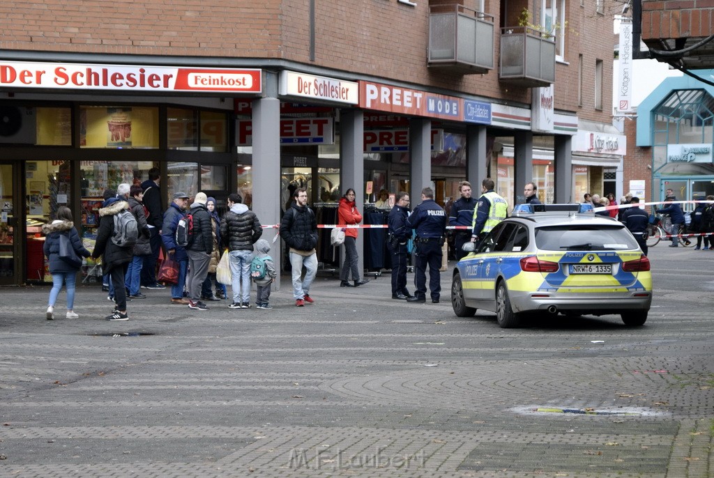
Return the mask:
[[[141,288],[143,289],[165,289],[165,287],[156,282],[156,261],[159,260],[159,250],[161,250],[161,225],[164,223],[164,203],[161,200],[161,190],[159,190],[159,168],[151,168],[149,170],[149,179],[141,183],[141,189],[144,190],[144,198],[142,202],[149,210],[149,216],[146,218],[146,223],[149,225],[151,238],[151,254],[144,258],[144,265],[141,267]]]

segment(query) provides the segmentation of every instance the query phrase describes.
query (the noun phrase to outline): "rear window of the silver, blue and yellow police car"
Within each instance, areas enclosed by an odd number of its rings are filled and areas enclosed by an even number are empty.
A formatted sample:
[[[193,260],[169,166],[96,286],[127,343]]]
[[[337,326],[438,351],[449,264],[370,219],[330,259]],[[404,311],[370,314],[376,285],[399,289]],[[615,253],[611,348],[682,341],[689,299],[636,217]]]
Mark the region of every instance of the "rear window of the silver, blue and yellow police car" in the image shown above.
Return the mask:
[[[550,225],[535,229],[540,250],[628,250],[638,244],[619,225]]]

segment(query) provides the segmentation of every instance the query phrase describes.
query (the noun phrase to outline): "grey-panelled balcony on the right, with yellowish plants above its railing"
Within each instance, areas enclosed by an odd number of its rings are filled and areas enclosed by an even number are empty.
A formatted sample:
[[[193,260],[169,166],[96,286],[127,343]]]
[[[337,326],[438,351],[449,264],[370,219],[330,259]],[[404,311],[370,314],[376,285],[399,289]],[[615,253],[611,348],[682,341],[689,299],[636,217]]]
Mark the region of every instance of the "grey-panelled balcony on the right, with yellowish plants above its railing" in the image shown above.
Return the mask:
[[[555,83],[555,35],[528,26],[501,29],[498,77],[526,88]]]

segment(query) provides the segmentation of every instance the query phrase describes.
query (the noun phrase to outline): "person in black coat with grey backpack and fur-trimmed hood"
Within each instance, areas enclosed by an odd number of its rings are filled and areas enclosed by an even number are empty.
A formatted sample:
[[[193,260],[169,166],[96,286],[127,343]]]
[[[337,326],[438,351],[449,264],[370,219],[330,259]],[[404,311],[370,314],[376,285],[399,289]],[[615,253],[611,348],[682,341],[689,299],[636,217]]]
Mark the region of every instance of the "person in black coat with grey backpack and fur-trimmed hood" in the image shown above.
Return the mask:
[[[104,207],[99,209],[99,228],[91,257],[96,259],[102,256],[102,270],[105,274],[109,273],[111,283],[114,285],[116,307],[110,315],[106,316],[106,320],[129,320],[129,315],[126,313],[124,276],[133,257],[134,244],[138,236],[139,228],[136,225],[136,218],[129,210],[129,203],[121,198],[112,197],[104,201]]]

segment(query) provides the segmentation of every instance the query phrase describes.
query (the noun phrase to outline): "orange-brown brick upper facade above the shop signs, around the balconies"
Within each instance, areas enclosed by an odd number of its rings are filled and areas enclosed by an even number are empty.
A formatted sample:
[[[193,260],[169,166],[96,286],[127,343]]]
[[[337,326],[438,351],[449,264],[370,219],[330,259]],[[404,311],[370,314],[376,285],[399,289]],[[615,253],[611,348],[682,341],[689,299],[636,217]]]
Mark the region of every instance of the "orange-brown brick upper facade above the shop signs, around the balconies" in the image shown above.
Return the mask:
[[[610,0],[611,1],[611,0]],[[443,4],[443,0],[435,0]],[[474,0],[463,1],[475,6]],[[595,0],[567,2],[565,61],[555,72],[555,108],[610,123],[612,19],[595,14]],[[529,104],[531,89],[498,81],[501,4],[486,2],[496,26],[496,68],[483,75],[430,70],[428,1],[315,1],[315,59],[310,57],[306,0],[14,0],[0,4],[0,49],[86,54],[285,59],[311,66],[433,86]],[[513,7],[517,8],[517,7]],[[531,9],[533,6],[531,5]],[[519,9],[520,11],[520,9]],[[585,55],[583,106],[578,107],[578,54]],[[603,109],[594,109],[595,60],[605,68]],[[246,66],[246,61],[236,66]],[[249,66],[249,65],[248,65]]]

